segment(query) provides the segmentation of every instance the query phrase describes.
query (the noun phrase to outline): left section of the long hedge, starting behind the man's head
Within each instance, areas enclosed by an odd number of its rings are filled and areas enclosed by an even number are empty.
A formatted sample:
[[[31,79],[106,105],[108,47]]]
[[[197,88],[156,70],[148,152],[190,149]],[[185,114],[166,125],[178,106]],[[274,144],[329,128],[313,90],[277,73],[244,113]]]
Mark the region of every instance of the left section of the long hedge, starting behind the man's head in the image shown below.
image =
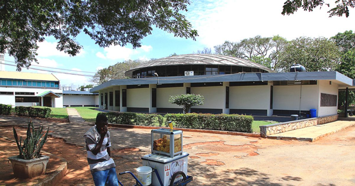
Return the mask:
[[[109,123],[125,125],[162,126],[163,116],[159,114],[142,114],[134,112],[106,112]]]

